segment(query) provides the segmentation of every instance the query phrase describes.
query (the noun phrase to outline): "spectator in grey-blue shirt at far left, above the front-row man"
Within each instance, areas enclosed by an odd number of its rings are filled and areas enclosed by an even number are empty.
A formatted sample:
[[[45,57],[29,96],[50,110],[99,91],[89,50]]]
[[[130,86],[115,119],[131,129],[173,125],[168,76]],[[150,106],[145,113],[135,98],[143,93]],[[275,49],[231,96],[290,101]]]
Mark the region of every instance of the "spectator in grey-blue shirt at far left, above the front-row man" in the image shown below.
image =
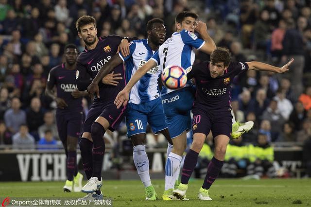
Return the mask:
[[[19,126],[26,123],[26,113],[20,109],[18,98],[12,99],[11,108],[4,113],[4,122],[10,132],[15,134]],[[28,130],[28,129],[27,129]]]

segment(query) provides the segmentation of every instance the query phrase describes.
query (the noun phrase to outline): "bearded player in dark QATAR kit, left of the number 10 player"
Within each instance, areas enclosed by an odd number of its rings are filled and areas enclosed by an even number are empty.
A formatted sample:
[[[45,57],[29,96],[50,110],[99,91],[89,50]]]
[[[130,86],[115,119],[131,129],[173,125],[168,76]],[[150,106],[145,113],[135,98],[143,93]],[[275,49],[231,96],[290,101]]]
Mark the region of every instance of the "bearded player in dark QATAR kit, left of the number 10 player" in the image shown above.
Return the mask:
[[[86,43],[85,51],[81,52],[77,58],[76,73],[78,89],[84,91],[102,66],[119,52],[118,46],[123,37],[117,35],[97,37],[96,21],[90,16],[80,17],[76,21],[76,28],[79,37]],[[124,41],[128,47],[127,40]],[[124,52],[124,50],[121,51]],[[101,173],[105,151],[103,136],[108,129],[114,131],[124,117],[125,107],[117,108],[113,104],[118,92],[125,86],[123,65],[115,67],[113,72],[114,75],[120,74],[123,80],[117,86],[99,83],[100,96],[94,98],[83,124],[83,134],[79,145],[83,168],[88,179],[86,185],[82,187],[82,191],[88,193],[84,199],[103,198],[100,190],[103,184]]]

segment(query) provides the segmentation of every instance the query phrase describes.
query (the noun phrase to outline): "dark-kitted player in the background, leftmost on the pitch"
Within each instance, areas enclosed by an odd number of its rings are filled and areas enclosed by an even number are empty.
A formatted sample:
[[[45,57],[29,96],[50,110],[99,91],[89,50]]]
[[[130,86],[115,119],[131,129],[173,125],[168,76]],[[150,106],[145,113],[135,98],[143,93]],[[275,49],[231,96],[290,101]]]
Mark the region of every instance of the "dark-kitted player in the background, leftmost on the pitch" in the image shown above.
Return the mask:
[[[77,89],[75,80],[78,49],[75,45],[65,46],[65,63],[52,68],[49,72],[46,95],[56,101],[56,124],[67,156],[67,180],[64,191],[79,192],[83,175],[77,168],[77,142],[83,123],[82,97],[86,92]],[[56,86],[56,96],[53,88]]]

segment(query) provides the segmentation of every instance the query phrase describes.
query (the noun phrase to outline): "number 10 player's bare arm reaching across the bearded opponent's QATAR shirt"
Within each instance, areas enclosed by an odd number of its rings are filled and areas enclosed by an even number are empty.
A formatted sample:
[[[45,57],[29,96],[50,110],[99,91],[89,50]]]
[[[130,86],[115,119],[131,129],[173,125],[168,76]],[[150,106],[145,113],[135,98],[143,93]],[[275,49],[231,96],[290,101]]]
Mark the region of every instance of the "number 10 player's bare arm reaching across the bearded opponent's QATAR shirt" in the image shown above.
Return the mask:
[[[95,78],[92,80],[92,83],[87,87],[87,92],[89,94],[97,94],[99,97],[99,87],[98,84],[103,80],[103,78],[108,75],[115,67],[123,63],[123,60],[119,54],[114,55],[107,64],[105,64],[100,71],[97,73]],[[117,75],[117,74],[116,74]]]

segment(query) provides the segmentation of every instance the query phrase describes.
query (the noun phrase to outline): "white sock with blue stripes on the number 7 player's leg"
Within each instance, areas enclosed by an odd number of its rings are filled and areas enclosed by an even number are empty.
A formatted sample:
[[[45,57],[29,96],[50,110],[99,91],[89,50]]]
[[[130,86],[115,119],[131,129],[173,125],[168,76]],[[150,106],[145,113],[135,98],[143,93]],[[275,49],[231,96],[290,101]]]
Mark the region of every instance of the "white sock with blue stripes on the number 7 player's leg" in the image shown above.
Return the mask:
[[[170,153],[165,165],[165,188],[164,190],[174,189],[174,184],[180,170],[181,156]]]

